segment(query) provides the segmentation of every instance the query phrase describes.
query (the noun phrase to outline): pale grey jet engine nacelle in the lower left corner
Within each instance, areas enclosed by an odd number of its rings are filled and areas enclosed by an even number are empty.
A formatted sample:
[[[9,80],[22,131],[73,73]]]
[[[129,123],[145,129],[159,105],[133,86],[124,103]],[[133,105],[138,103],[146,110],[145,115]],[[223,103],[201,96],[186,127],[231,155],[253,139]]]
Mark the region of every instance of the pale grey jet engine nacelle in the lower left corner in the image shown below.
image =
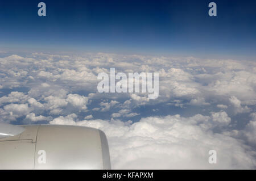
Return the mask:
[[[21,125],[0,138],[0,169],[110,169],[108,141],[99,129]]]

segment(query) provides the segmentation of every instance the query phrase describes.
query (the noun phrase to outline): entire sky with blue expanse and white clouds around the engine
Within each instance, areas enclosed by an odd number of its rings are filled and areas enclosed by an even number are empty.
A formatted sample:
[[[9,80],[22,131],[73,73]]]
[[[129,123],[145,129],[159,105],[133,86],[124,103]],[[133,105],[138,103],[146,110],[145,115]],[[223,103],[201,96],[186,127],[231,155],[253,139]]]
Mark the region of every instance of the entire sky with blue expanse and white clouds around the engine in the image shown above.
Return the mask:
[[[112,169],[256,169],[255,1],[44,2],[0,1],[0,123],[101,129]],[[111,68],[158,98],[100,93]]]

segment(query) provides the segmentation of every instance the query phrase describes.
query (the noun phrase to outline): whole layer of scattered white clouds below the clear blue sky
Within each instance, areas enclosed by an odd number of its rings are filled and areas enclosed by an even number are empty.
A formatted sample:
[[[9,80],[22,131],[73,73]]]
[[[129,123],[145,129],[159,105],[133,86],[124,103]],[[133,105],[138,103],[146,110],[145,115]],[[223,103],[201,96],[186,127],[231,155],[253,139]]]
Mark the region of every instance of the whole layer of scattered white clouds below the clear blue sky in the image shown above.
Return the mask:
[[[254,61],[105,53],[1,57],[1,121],[102,129],[113,169],[256,168]],[[158,99],[99,93],[97,75],[110,68],[158,72]],[[216,150],[216,164],[208,162],[209,150]]]

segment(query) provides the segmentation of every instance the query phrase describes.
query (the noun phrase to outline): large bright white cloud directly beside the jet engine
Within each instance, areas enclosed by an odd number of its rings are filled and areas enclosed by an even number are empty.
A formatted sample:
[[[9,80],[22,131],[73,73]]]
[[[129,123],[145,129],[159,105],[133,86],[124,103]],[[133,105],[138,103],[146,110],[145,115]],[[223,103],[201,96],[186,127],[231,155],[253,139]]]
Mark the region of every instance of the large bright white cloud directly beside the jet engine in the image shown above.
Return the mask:
[[[200,115],[201,118],[208,117]],[[226,123],[225,113],[213,121]],[[242,142],[221,133],[205,131],[196,117],[145,117],[137,123],[119,120],[55,119],[102,129],[108,136],[113,169],[253,169],[256,163]],[[217,151],[217,164],[208,163],[208,151]]]

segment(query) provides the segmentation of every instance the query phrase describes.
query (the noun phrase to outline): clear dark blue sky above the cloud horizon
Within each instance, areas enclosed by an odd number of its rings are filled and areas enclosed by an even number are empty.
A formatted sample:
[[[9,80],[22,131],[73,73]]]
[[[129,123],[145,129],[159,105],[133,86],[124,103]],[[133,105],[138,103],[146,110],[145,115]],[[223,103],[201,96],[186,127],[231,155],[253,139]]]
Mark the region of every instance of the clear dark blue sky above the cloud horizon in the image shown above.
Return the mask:
[[[0,47],[255,57],[255,9],[256,1],[1,0]]]

